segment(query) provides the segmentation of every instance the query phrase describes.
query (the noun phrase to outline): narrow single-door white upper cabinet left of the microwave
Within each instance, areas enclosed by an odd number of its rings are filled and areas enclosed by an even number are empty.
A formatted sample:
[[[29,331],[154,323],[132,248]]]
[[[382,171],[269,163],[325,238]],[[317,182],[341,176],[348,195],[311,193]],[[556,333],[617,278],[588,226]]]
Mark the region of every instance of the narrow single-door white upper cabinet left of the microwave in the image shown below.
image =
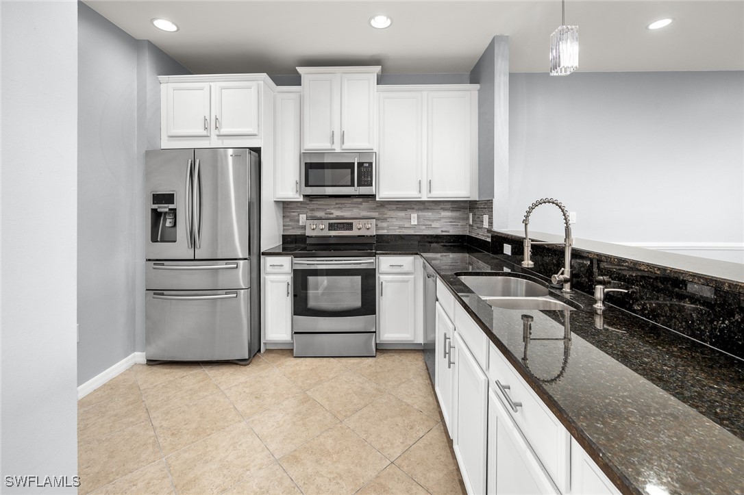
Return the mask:
[[[274,125],[274,199],[299,201],[300,88],[278,88]]]

